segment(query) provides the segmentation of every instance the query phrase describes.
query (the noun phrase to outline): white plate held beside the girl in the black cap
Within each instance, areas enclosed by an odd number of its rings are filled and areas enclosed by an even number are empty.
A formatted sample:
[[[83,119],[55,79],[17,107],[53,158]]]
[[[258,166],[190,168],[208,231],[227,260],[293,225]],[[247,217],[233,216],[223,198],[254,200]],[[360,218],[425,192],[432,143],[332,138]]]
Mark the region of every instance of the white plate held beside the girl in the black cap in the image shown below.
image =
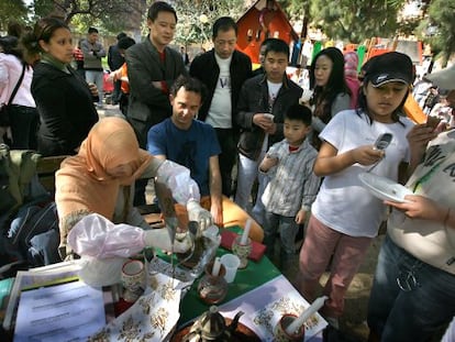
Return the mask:
[[[358,175],[362,184],[367,188],[374,196],[395,202],[407,202],[404,199],[406,195],[412,195],[413,192],[389,178],[381,177],[375,174],[363,173]]]

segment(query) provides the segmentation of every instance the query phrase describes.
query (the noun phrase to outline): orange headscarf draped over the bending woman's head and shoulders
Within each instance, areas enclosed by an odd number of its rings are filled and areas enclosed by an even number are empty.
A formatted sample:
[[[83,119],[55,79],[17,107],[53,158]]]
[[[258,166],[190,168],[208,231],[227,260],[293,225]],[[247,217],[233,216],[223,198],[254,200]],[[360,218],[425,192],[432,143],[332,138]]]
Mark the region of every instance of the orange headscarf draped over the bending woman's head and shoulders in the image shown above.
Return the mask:
[[[152,158],[140,148],[134,131],[125,120],[100,120],[82,142],[79,153],[66,158],[56,173],[55,201],[59,218],[90,211],[112,220],[120,186],[133,184]],[[122,164],[132,166],[132,175],[116,178],[107,173]]]

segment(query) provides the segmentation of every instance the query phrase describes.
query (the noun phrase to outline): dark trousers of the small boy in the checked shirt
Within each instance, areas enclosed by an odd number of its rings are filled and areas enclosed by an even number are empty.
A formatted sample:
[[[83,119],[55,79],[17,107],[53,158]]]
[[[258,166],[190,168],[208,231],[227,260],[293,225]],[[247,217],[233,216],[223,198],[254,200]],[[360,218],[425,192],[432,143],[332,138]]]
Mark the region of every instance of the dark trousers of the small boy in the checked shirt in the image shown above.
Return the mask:
[[[289,258],[296,254],[295,240],[299,230],[296,217],[284,217],[273,212],[266,212],[264,224],[264,244],[267,246],[267,255],[273,255],[276,233],[280,236],[280,256]]]

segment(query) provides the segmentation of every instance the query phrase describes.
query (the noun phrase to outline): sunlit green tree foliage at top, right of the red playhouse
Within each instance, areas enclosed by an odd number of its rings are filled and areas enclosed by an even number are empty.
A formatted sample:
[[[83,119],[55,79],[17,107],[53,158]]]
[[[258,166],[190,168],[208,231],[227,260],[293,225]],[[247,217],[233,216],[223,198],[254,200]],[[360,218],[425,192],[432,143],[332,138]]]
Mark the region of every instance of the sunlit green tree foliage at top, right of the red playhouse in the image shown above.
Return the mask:
[[[313,23],[332,38],[362,43],[373,36],[395,35],[398,11],[406,0],[312,0]]]

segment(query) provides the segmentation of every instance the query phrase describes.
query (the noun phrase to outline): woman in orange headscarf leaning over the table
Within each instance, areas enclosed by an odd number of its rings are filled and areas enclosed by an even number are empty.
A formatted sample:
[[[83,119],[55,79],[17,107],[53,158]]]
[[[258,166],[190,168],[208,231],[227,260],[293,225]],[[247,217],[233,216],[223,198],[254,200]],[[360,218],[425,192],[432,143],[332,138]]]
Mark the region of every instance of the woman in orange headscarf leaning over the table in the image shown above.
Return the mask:
[[[73,253],[67,246],[68,232],[89,213],[99,213],[113,223],[148,229],[149,225],[133,207],[135,179],[162,176],[171,188],[171,183],[176,183],[171,178],[176,175],[181,177],[186,170],[141,150],[133,129],[125,120],[106,118],[99,121],[82,142],[79,153],[66,158],[56,173],[55,202],[59,217],[60,256],[65,258]],[[199,189],[191,178],[185,179],[184,188],[188,188],[188,191],[181,191],[181,184],[178,186],[178,191],[170,189],[179,192],[176,200],[182,203],[199,202]],[[200,218],[210,216],[200,207],[198,210]]]

